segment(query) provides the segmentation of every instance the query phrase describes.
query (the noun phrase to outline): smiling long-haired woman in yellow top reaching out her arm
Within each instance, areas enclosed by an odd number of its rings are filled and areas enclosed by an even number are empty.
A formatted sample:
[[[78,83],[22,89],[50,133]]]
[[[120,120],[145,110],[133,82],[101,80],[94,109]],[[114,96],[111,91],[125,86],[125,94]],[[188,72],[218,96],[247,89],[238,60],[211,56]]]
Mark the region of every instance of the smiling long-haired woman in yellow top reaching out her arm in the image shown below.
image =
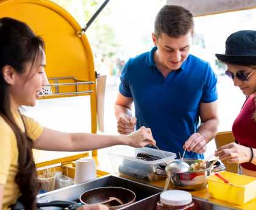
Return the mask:
[[[21,105],[35,106],[44,79],[44,42],[20,21],[0,19],[0,210],[21,196],[26,209],[36,209],[37,171],[32,148],[52,151],[87,151],[113,145],[155,145],[149,128],[131,135],[106,136],[64,133],[41,127],[19,112]],[[145,140],[148,141],[145,141]],[[88,205],[82,209],[108,209]]]

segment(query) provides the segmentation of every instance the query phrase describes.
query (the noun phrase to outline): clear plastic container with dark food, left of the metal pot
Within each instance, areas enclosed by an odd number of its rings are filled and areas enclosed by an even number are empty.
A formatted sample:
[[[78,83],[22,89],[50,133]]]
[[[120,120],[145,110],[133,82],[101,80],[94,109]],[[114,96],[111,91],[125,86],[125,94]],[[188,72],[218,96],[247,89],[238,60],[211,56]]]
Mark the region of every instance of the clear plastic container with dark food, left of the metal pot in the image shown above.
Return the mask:
[[[171,161],[176,158],[176,153],[162,151]],[[148,153],[149,155],[158,156],[162,159],[157,161],[144,161],[136,159],[138,153]],[[148,183],[163,180],[165,175],[157,175],[154,173],[154,166],[168,162],[163,154],[157,149],[148,147],[134,148],[129,146],[119,147],[115,150],[108,151],[110,161],[115,173],[126,175],[127,177],[137,178]]]

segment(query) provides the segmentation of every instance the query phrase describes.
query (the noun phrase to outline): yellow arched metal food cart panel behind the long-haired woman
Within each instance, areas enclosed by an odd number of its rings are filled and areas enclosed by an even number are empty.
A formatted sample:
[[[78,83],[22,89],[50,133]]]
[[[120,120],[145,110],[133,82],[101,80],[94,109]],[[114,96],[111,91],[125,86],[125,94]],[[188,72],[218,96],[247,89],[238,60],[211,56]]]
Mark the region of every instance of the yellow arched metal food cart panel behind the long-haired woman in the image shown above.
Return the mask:
[[[90,85],[90,90],[93,91],[90,94],[91,133],[96,133],[96,72],[93,53],[85,33],[80,38],[76,35],[81,27],[73,16],[48,0],[0,0],[0,18],[3,17],[23,21],[36,35],[44,39],[47,77],[76,77],[77,80],[94,82]],[[59,83],[64,82],[74,82],[74,80],[59,81]],[[54,80],[49,80],[49,83],[54,83]],[[84,88],[84,85],[79,85],[79,91],[84,91]],[[54,91],[54,88],[52,90]],[[76,86],[61,86],[59,90],[60,93],[73,92],[76,91]],[[88,94],[73,96],[85,95]],[[97,150],[92,154],[96,156]]]

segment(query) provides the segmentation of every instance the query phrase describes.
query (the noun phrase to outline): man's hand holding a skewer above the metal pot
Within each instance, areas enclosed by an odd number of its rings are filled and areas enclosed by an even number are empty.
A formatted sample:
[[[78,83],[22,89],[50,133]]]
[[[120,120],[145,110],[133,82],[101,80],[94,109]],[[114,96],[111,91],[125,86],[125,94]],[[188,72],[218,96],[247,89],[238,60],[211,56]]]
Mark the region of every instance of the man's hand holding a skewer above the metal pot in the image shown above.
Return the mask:
[[[183,149],[187,149],[188,152],[196,152],[198,154],[203,154],[206,151],[206,144],[204,137],[199,133],[194,133],[188,141],[183,145]]]

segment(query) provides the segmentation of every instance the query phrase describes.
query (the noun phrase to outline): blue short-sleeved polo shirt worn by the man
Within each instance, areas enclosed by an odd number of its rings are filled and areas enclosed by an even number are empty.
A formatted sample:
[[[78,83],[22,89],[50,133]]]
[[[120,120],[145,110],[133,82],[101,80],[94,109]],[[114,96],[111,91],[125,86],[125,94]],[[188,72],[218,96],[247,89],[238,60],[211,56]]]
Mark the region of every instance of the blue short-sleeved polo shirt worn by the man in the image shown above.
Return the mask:
[[[167,77],[157,69],[150,52],[130,58],[121,72],[119,92],[133,97],[136,129],[151,128],[160,150],[183,154],[183,145],[199,127],[200,103],[218,99],[217,77],[210,64],[188,55],[180,69]],[[185,158],[204,158],[186,152]]]

